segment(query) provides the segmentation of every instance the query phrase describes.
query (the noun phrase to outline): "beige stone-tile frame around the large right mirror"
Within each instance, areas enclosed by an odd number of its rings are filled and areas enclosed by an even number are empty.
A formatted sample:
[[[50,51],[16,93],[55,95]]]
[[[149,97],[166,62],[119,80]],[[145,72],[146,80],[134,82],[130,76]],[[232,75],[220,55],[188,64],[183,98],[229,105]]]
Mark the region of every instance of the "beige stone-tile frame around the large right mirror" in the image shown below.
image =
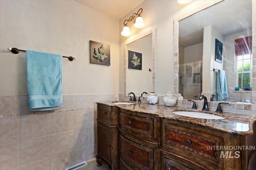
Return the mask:
[[[187,12],[174,20],[174,95],[178,98],[179,93],[179,21],[196,14],[210,6],[221,3],[222,0],[210,1],[203,6],[200,6],[190,12]],[[226,108],[229,109],[240,109],[240,110],[251,110],[256,111],[256,1],[252,0],[252,104],[239,104],[239,103],[230,103]],[[191,102],[188,100],[178,100],[178,104],[188,104]],[[202,103],[202,102],[201,102]],[[211,103],[211,102],[210,102]],[[217,106],[218,102],[212,102],[209,104],[210,107]],[[225,108],[225,106],[224,106]]]

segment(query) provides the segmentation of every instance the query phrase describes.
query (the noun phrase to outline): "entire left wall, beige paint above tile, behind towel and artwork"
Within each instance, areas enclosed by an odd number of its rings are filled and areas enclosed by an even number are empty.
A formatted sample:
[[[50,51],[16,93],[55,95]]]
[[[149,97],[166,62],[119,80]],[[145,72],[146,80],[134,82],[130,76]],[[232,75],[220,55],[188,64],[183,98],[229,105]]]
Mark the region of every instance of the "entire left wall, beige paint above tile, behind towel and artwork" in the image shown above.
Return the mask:
[[[73,0],[0,1],[1,170],[63,170],[95,158],[95,102],[119,93],[118,26]],[[110,45],[110,66],[90,64],[90,40]],[[28,111],[26,53],[7,47],[77,58],[63,58],[61,109]]]

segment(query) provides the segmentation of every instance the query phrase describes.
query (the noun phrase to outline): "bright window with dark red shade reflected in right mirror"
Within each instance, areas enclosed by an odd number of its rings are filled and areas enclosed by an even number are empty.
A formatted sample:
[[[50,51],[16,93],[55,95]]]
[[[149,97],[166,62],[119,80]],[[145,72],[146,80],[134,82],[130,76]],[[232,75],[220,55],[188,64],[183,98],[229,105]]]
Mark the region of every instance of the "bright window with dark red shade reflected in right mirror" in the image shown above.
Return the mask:
[[[235,40],[236,87],[250,88],[252,82],[252,37]]]

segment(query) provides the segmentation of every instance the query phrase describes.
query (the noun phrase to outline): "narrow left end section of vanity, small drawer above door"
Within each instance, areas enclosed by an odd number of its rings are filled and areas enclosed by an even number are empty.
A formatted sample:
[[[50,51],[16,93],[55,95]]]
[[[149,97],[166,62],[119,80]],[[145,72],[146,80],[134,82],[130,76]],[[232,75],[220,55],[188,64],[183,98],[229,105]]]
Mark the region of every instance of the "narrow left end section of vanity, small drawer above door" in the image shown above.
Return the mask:
[[[97,104],[98,166],[119,169],[118,107]]]

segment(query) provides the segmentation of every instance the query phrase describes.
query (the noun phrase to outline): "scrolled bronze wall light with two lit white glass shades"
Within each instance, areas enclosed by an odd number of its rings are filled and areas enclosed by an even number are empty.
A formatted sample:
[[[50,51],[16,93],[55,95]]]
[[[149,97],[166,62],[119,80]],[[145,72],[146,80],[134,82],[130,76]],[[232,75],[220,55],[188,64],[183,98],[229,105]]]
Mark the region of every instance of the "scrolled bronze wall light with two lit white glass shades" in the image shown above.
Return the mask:
[[[133,13],[132,16],[129,17],[128,20],[124,20],[124,28],[123,31],[121,32],[121,35],[127,37],[130,36],[132,33],[130,31],[130,28],[127,26],[127,23],[129,21],[133,21],[134,22],[134,27],[135,28],[142,28],[145,26],[144,22],[143,22],[143,18],[140,16],[140,14],[142,13],[143,9],[140,8],[138,10],[137,13]]]

